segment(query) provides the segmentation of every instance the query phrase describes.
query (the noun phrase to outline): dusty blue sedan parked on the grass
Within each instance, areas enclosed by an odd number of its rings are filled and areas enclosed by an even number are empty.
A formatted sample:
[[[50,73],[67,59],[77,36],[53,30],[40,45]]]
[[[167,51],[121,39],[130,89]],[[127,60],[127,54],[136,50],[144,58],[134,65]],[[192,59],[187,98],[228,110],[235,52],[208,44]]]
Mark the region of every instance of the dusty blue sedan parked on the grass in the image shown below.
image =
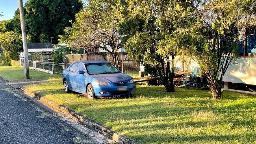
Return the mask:
[[[87,94],[89,99],[97,97],[132,95],[134,79],[122,74],[108,61],[77,61],[63,70],[65,92]]]

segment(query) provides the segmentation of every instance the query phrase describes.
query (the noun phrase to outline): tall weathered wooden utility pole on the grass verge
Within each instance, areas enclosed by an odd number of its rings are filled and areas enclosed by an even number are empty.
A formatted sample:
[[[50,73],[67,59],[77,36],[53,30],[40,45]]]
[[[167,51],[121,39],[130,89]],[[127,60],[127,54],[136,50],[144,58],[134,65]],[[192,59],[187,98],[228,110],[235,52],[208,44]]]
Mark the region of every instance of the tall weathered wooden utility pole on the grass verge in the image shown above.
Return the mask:
[[[23,43],[24,72],[25,72],[25,79],[29,79],[28,43],[27,43],[27,35],[26,35],[26,28],[25,28],[25,16],[24,16],[22,0],[19,0],[19,9],[20,9],[20,26],[21,26],[22,43]]]

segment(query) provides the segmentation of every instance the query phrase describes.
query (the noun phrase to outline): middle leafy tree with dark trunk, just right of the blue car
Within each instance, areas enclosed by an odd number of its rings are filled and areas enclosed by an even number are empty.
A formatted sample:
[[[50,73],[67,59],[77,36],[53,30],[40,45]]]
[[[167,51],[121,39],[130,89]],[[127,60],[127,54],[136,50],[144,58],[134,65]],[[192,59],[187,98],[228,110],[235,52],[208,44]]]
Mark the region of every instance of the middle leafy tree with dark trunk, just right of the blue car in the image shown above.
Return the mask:
[[[174,92],[174,58],[182,51],[182,34],[191,20],[193,1],[127,0],[122,9],[125,50],[167,92]]]

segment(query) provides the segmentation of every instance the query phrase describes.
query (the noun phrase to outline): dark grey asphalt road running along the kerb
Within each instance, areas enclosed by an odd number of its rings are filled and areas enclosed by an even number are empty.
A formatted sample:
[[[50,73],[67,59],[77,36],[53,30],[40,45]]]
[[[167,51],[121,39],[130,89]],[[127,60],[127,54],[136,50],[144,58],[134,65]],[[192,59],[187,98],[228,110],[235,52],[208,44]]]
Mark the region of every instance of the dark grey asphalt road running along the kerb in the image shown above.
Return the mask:
[[[97,132],[77,123],[72,126],[64,119],[0,80],[0,144],[112,143]]]

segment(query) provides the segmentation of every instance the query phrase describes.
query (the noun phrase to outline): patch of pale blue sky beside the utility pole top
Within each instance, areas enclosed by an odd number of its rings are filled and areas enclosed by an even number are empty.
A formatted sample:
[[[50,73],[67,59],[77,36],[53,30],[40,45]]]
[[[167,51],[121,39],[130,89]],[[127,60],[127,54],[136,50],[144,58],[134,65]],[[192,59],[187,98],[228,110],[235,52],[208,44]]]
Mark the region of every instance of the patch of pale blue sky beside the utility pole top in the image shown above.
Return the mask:
[[[23,0],[23,5],[28,0]],[[19,0],[0,0],[0,13],[3,12],[0,21],[13,18],[14,12],[19,8]]]

